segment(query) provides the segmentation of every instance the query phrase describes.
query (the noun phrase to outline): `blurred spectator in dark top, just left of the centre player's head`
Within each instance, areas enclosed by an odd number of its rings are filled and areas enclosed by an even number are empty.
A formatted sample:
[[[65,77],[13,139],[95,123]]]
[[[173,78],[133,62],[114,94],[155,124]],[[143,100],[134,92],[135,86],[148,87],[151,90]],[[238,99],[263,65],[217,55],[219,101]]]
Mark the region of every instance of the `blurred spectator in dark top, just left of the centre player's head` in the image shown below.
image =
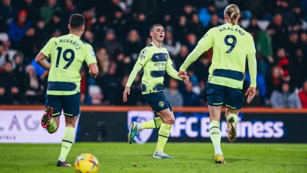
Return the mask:
[[[143,48],[142,40],[137,30],[135,29],[130,30],[126,38],[126,44],[124,48],[125,48],[125,54],[127,56],[130,56],[133,62],[136,62],[138,60],[140,51]]]

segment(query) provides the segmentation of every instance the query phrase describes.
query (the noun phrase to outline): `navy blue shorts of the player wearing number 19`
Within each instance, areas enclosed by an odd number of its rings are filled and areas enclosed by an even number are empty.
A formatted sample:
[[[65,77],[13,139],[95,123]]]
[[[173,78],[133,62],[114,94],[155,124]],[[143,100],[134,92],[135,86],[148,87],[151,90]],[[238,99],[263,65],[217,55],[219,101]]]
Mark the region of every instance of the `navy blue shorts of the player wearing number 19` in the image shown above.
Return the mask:
[[[53,117],[61,115],[74,117],[80,114],[80,93],[74,95],[46,95],[46,107],[53,108]]]

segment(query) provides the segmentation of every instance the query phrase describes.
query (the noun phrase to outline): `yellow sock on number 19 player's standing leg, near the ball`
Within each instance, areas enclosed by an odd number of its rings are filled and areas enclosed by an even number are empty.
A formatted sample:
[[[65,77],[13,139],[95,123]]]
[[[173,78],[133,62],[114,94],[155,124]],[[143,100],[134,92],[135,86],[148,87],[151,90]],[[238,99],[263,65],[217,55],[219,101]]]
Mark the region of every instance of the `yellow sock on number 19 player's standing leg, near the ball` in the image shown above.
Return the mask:
[[[62,149],[61,149],[61,153],[59,157],[59,160],[61,162],[66,161],[66,157],[70,151],[70,148],[72,147],[72,143],[75,139],[75,135],[76,135],[75,128],[66,127],[64,136],[62,138]]]

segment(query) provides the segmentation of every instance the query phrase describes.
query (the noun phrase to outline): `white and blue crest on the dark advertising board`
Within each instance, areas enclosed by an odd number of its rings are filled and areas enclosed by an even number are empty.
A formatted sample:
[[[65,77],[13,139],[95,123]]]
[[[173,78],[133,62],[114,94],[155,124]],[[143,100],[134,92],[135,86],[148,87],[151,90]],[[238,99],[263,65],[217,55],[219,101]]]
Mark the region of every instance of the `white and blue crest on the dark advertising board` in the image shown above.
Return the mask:
[[[153,111],[129,111],[128,112],[128,119],[127,119],[127,132],[129,132],[129,124],[133,121],[138,123],[143,123],[149,121],[154,118]],[[153,133],[153,129],[143,129],[142,131],[138,132],[133,139],[136,143],[143,144],[148,141],[151,134]]]

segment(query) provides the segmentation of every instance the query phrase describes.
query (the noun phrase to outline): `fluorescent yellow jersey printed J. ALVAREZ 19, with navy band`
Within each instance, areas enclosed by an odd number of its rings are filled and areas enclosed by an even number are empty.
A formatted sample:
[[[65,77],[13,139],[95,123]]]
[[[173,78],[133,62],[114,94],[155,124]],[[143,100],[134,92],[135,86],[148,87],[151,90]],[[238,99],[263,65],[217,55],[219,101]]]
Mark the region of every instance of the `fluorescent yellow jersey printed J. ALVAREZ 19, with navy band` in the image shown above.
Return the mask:
[[[74,95],[80,92],[82,63],[97,63],[92,46],[74,34],[51,38],[41,52],[51,57],[48,95]]]

